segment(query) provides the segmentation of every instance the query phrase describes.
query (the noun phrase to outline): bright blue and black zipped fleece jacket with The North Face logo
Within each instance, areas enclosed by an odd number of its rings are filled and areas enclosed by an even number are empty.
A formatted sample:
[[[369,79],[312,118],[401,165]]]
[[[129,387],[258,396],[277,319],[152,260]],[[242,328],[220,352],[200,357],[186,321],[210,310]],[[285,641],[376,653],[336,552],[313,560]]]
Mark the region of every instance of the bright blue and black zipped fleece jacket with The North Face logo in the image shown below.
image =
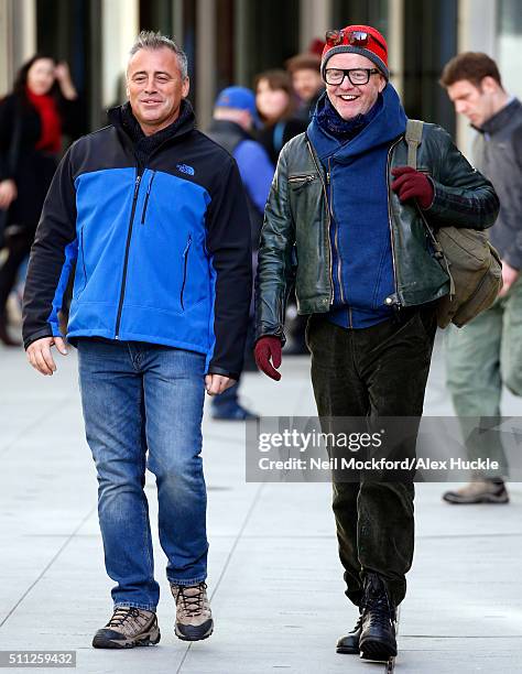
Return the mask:
[[[160,344],[207,356],[207,372],[237,379],[251,294],[247,200],[235,160],[178,123],[138,162],[118,109],[76,141],[45,199],[25,283],[23,339],[61,336],[72,270],[67,339]]]

